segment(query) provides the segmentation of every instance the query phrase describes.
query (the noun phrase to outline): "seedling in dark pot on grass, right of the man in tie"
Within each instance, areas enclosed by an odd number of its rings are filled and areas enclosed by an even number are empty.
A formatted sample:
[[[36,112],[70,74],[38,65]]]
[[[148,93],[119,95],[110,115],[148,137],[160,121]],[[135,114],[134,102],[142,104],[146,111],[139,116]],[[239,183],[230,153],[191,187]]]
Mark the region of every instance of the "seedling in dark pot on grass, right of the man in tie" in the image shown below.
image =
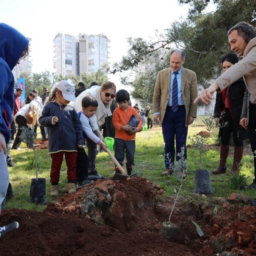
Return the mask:
[[[224,112],[221,113],[220,120],[223,119]],[[199,152],[199,166],[200,169],[195,170],[195,191],[196,194],[212,194],[212,187],[211,187],[211,181],[210,181],[210,172],[206,169],[203,169],[202,165],[202,156],[205,152],[209,150],[208,147],[208,141],[211,137],[212,130],[216,127],[214,117],[208,116],[204,117],[203,123],[206,127],[207,133],[204,133],[204,135],[193,135],[192,137],[189,136],[189,140],[194,148],[196,148]],[[222,126],[218,127],[224,127],[227,125],[226,123],[223,123]]]

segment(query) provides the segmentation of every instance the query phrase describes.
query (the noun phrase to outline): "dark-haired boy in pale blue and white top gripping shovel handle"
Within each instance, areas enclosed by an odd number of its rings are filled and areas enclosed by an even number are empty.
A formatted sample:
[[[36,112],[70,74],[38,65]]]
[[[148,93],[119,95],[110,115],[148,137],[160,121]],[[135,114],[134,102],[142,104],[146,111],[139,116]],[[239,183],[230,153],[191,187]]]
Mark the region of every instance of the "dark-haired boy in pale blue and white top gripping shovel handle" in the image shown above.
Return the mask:
[[[101,148],[106,151],[105,143],[94,134],[91,127],[91,123],[96,121],[97,117],[95,115],[98,108],[98,102],[92,96],[85,96],[82,99],[82,111],[78,113],[80,122],[82,124],[84,138],[89,138],[94,143],[101,146]],[[99,128],[98,128],[99,129]],[[79,148],[77,150],[77,160],[76,160],[76,178],[77,178],[77,188],[80,189],[84,186],[89,185],[93,180],[87,180],[89,169],[89,158],[84,151],[84,148]]]

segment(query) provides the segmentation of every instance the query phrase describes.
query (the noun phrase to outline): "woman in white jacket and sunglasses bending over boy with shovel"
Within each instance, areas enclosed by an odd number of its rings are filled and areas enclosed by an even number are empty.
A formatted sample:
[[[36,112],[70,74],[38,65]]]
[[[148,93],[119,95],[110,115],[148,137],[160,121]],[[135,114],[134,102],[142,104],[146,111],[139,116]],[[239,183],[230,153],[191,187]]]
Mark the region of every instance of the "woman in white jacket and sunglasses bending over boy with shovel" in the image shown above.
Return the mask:
[[[77,98],[75,102],[71,102],[71,105],[76,109],[76,112],[82,110],[82,99],[85,96],[92,96],[98,102],[98,108],[95,113],[96,119],[90,119],[90,125],[96,135],[104,141],[104,138],[99,131],[99,127],[104,124],[105,117],[111,116],[110,106],[113,102],[113,99],[116,96],[116,85],[110,81],[107,81],[102,84],[102,86],[94,85],[90,89],[84,90]],[[97,154],[97,144],[94,143],[89,138],[86,138],[87,147],[88,147],[88,158],[90,160],[89,164],[89,175],[98,175],[98,172],[95,167],[95,160]]]

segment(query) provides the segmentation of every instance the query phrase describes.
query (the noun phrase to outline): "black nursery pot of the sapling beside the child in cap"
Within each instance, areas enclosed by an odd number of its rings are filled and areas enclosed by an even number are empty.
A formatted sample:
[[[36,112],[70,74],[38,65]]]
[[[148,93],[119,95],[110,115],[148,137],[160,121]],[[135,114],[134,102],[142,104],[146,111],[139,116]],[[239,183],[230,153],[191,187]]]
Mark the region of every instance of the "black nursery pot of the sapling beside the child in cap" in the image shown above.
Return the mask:
[[[35,204],[46,204],[46,179],[31,179],[29,202]]]

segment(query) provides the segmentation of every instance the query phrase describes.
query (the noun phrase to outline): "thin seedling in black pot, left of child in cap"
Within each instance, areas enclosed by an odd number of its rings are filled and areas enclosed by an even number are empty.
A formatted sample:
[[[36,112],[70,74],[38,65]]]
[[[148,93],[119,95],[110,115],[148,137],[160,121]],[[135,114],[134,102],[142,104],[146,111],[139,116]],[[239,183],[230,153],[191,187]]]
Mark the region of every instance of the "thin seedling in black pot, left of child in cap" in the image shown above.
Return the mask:
[[[36,134],[34,129],[22,127],[20,140],[27,144],[28,148],[32,148],[35,158],[35,175],[36,178],[31,179],[29,202],[35,204],[46,204],[46,180],[45,178],[38,178],[38,161],[35,150]]]

